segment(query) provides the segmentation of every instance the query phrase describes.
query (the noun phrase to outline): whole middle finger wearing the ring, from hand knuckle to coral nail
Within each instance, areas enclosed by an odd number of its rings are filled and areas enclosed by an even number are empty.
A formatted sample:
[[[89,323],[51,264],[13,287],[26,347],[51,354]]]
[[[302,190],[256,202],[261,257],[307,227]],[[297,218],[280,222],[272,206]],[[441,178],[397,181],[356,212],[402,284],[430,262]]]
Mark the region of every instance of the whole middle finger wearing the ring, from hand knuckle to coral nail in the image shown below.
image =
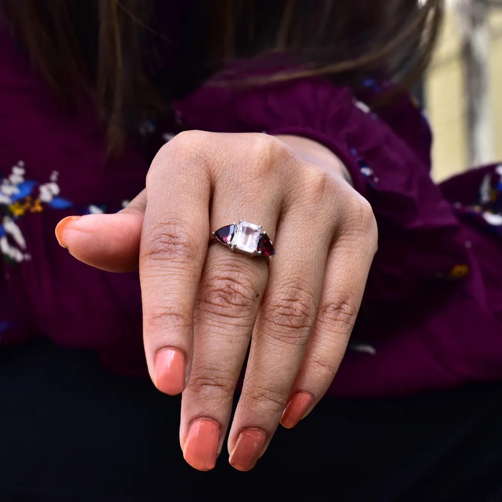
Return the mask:
[[[253,148],[263,149],[261,141],[255,140]],[[257,156],[249,152],[246,159],[251,163]],[[257,191],[251,180],[256,171],[250,166],[240,176],[234,175],[235,170],[221,175],[214,187],[211,229],[238,222],[240,216],[261,224],[273,238],[282,187],[272,184],[273,188],[265,190],[262,178]],[[210,246],[197,295],[194,356],[180,424],[184,457],[197,469],[214,467],[221,449],[267,276],[265,259],[232,253],[220,244]]]

